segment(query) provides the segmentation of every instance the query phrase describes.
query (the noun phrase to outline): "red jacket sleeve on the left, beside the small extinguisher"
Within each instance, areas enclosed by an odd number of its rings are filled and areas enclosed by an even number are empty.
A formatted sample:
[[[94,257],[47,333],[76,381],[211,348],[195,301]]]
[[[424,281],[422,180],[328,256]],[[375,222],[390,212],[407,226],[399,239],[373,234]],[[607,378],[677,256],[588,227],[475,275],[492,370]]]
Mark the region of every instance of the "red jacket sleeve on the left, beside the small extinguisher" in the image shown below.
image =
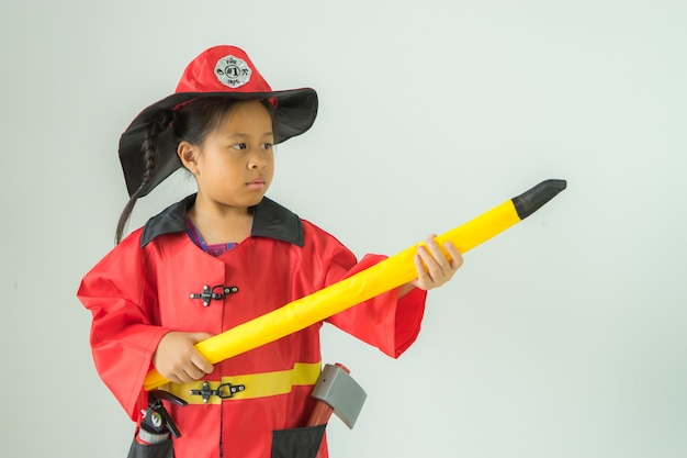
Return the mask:
[[[132,420],[147,406],[143,381],[162,336],[145,276],[140,232],[129,235],[82,279],[77,297],[92,315],[91,350],[100,378]]]

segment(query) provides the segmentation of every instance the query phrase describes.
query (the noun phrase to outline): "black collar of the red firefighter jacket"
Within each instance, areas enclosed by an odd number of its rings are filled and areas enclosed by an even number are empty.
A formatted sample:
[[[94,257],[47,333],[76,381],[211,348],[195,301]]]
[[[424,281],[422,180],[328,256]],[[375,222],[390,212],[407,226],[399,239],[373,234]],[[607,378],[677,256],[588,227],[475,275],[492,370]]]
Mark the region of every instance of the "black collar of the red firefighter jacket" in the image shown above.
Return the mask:
[[[187,211],[193,206],[194,202],[195,194],[191,194],[148,220],[143,228],[140,247],[143,248],[162,234],[185,232]],[[268,198],[262,198],[260,203],[254,206],[250,235],[303,246],[303,223],[299,215],[289,209]]]

